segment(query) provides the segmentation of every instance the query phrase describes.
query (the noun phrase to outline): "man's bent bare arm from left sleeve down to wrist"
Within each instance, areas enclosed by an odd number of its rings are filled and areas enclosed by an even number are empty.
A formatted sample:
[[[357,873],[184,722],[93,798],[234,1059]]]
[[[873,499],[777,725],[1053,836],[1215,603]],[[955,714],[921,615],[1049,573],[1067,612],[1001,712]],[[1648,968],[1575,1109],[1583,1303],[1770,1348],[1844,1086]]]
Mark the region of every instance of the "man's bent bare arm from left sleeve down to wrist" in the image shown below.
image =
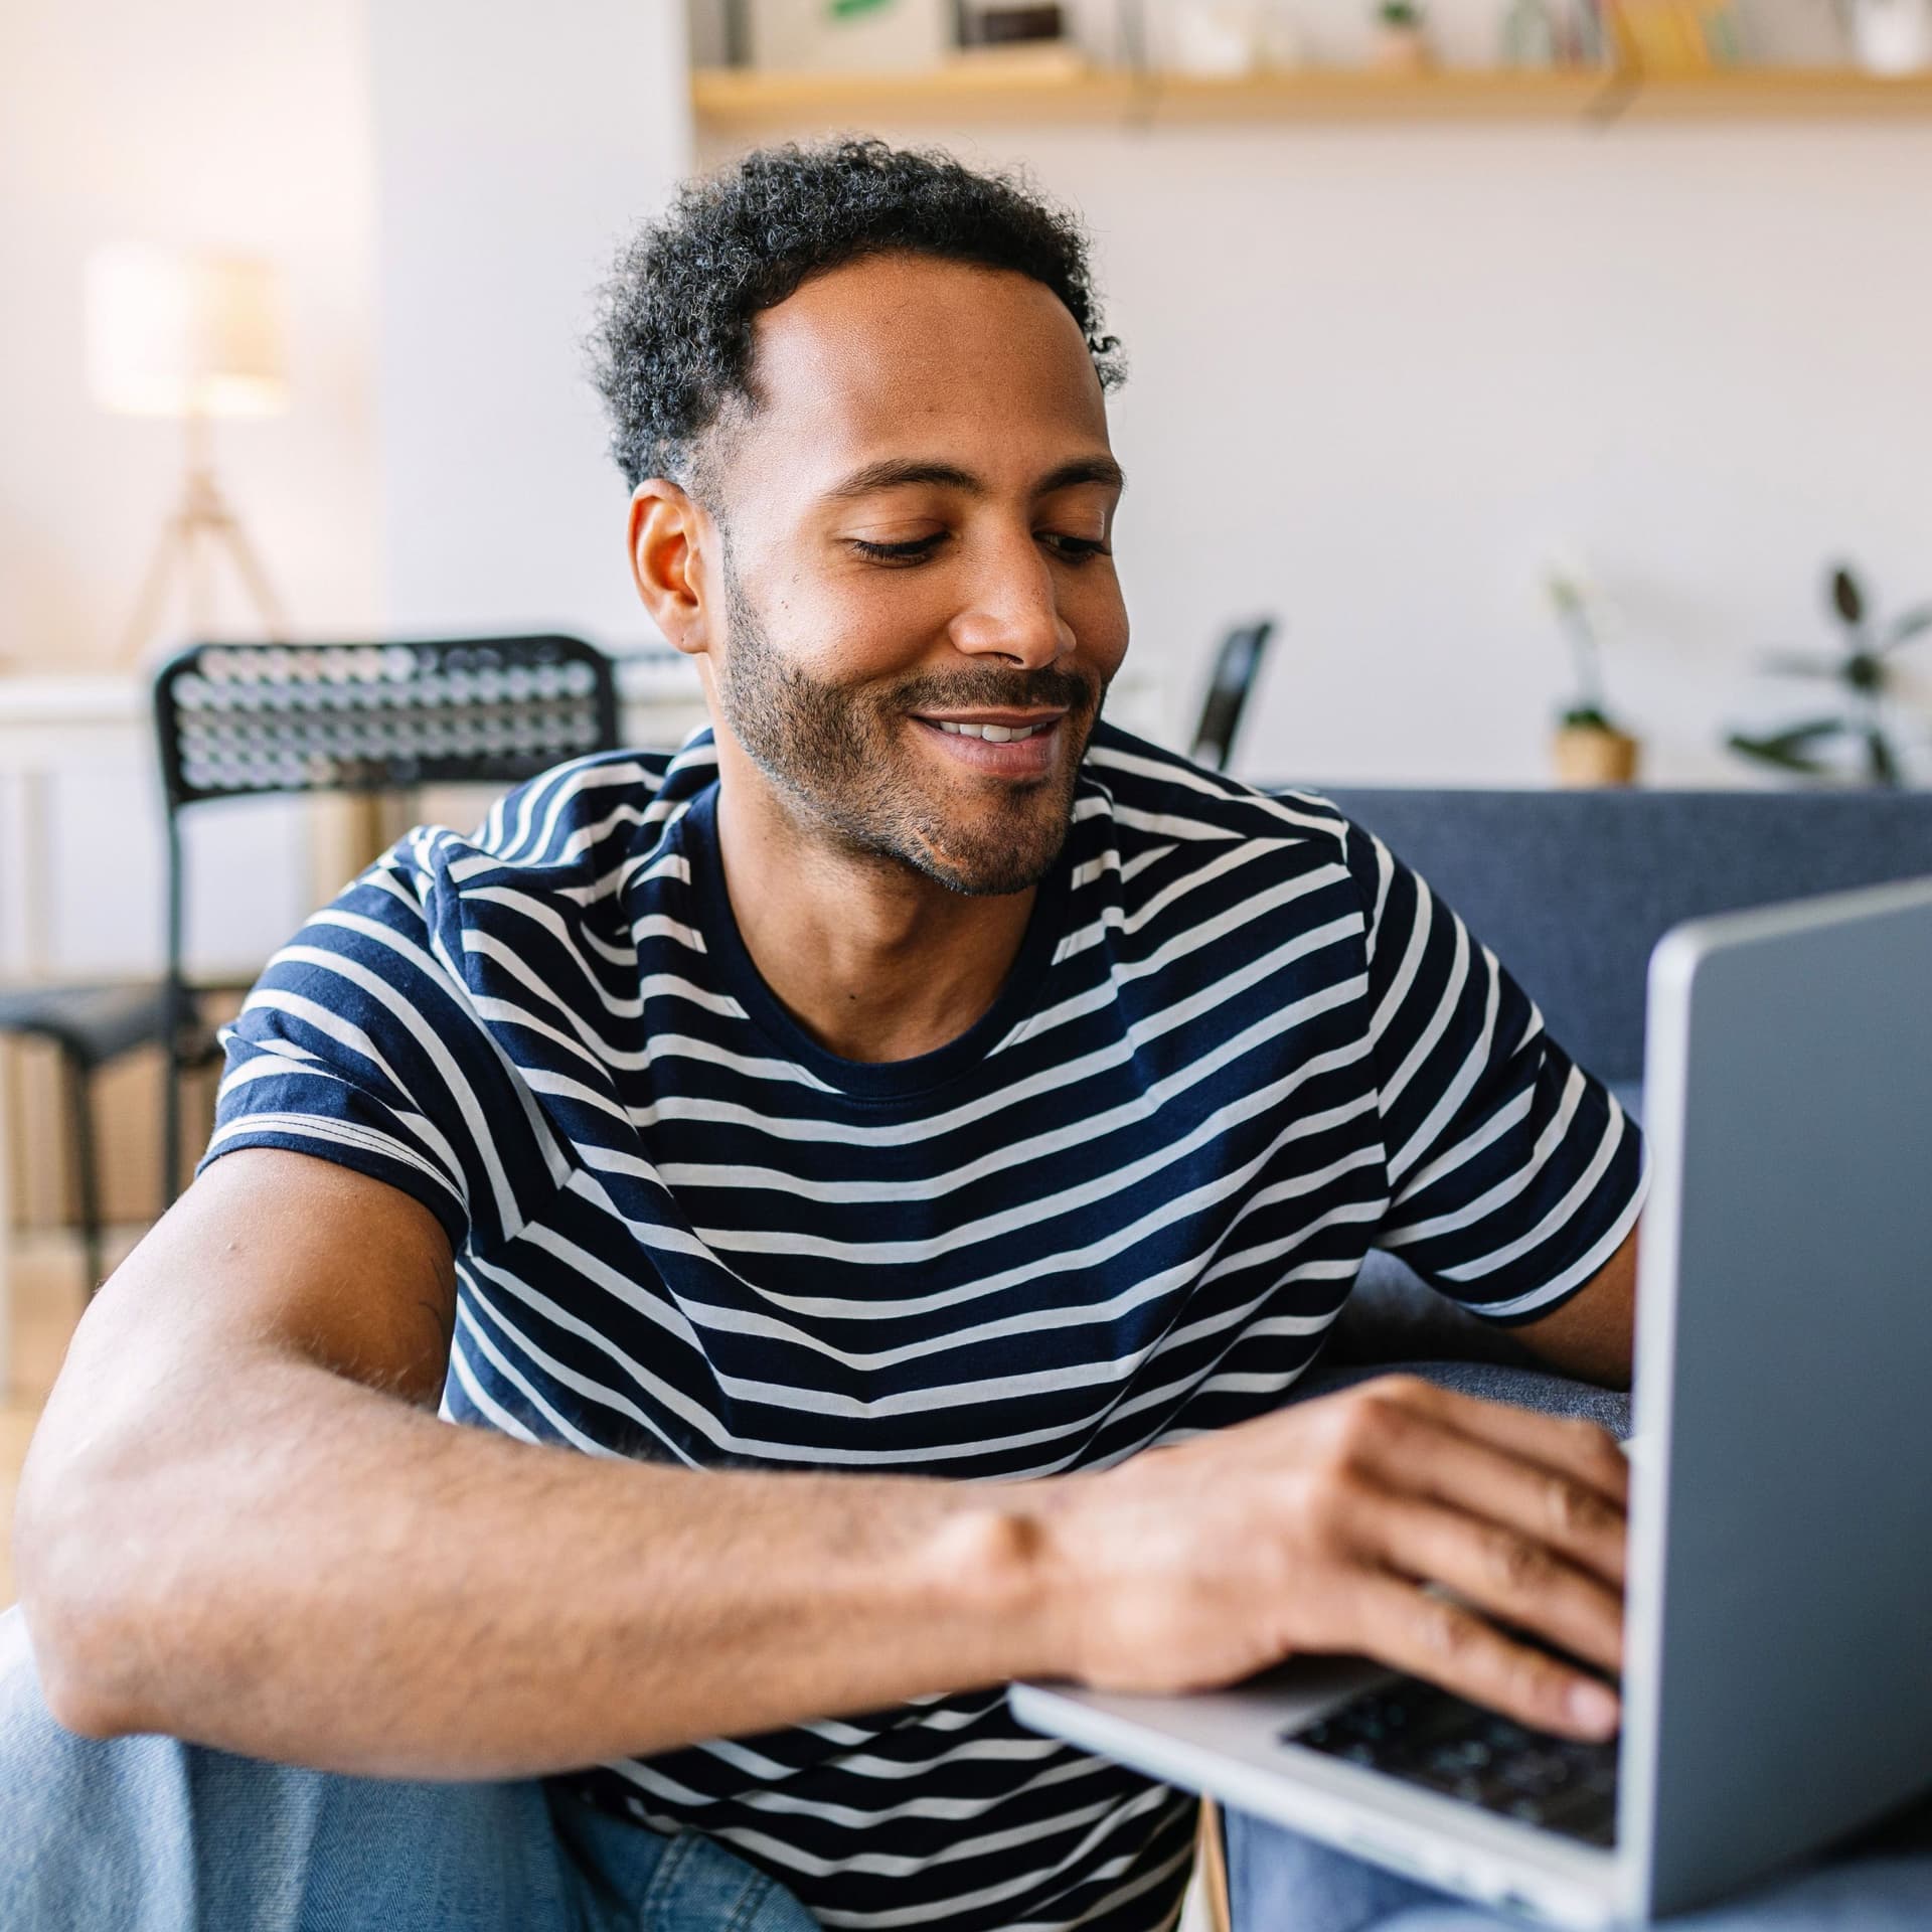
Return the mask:
[[[19,1499],[58,1716],[543,1772],[1039,1667],[985,1492],[697,1474],[450,1428],[435,1217],[218,1161],[102,1289]]]

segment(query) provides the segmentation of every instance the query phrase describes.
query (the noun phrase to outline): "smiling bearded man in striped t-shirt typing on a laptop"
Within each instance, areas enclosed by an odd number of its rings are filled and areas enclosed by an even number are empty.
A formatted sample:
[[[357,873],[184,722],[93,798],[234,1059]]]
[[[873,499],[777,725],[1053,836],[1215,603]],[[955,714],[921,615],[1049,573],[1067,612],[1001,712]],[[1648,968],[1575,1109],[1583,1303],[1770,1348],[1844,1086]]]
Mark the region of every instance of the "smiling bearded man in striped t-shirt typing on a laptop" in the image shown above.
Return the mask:
[[[1499,1629],[1617,1665],[1609,1437],[1289,1397],[1370,1244],[1625,1379],[1636,1132],[1374,838],[1099,723],[1115,379],[1078,232],[935,156],[753,155],[624,257],[715,732],[402,840],[232,1028],[23,1482],[112,1743],[15,1617],[10,1924],[1151,1928],[1190,1801],[1009,1679],[1615,1727]]]

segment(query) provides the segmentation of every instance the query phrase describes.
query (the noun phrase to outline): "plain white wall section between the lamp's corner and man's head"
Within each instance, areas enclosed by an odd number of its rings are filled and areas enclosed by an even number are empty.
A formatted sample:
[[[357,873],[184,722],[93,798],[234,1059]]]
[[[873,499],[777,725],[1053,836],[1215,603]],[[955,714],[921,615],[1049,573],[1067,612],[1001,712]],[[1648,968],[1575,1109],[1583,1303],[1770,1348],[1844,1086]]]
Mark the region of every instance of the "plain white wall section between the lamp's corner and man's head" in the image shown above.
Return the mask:
[[[384,611],[645,639],[580,342],[690,164],[672,0],[381,0]]]

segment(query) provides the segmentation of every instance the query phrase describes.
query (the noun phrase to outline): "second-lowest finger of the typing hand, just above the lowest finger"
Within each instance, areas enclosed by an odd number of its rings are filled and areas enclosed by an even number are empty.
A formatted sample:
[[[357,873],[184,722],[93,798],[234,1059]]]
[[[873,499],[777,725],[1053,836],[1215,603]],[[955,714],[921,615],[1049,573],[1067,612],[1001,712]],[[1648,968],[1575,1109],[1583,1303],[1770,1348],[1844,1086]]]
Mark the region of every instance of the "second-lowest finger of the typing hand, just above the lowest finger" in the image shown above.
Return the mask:
[[[1623,1669],[1623,1596],[1548,1544],[1434,1503],[1395,1499],[1378,1513],[1372,1549],[1403,1577],[1445,1584],[1573,1656]]]

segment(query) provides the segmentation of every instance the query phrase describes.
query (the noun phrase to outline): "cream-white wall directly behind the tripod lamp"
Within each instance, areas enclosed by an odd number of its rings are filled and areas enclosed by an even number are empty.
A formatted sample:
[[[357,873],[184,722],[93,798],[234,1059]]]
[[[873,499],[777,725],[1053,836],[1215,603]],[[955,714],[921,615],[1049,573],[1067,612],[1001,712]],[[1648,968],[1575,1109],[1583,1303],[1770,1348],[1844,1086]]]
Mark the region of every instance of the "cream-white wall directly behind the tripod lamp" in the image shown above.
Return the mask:
[[[290,413],[218,425],[216,469],[294,624],[373,620],[367,102],[355,0],[0,6],[0,668],[106,668],[180,489],[180,429],[87,394],[102,242],[282,267]]]

